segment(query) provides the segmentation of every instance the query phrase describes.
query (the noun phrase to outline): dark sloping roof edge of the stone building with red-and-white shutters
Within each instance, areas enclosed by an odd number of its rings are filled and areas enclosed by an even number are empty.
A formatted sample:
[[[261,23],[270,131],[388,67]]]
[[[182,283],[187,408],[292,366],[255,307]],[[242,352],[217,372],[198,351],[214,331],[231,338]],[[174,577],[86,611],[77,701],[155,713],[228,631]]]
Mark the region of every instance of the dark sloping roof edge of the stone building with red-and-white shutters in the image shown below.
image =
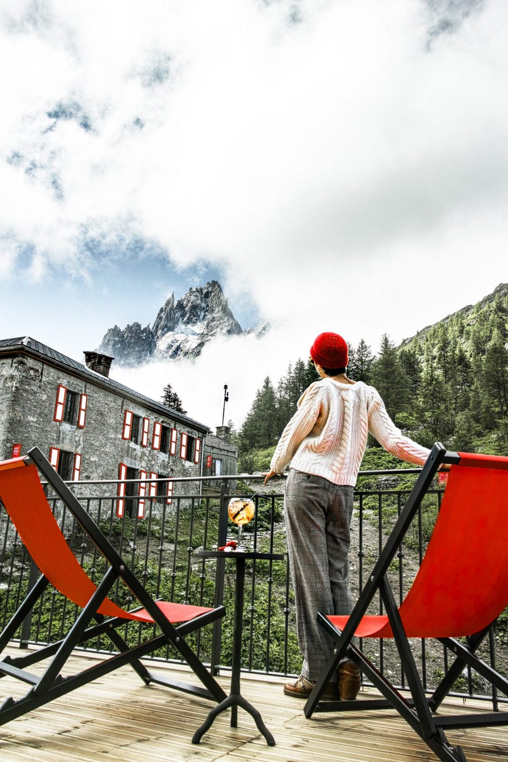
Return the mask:
[[[173,408],[169,408],[168,405],[156,402],[155,399],[145,397],[144,394],[136,392],[135,389],[129,389],[128,386],[123,386],[123,384],[114,379],[107,378],[107,376],[103,376],[101,373],[96,373],[94,370],[91,370],[91,368],[86,367],[86,365],[78,363],[77,360],[72,360],[72,357],[67,357],[67,355],[48,347],[46,344],[42,344],[42,342],[37,341],[37,339],[31,338],[30,336],[0,339],[0,354],[12,350],[31,354],[34,357],[45,357],[46,360],[50,360],[50,362],[57,367],[63,367],[65,370],[73,371],[79,376],[84,376],[85,379],[88,378],[93,380],[97,386],[104,386],[104,388],[110,389],[111,392],[122,394],[123,396],[143,402],[144,405],[161,412],[167,418],[174,418],[176,421],[181,421],[181,423],[187,424],[204,433],[210,431],[210,427],[206,426],[206,424],[200,424],[199,421],[194,421],[193,418],[189,418],[187,415],[183,415]]]

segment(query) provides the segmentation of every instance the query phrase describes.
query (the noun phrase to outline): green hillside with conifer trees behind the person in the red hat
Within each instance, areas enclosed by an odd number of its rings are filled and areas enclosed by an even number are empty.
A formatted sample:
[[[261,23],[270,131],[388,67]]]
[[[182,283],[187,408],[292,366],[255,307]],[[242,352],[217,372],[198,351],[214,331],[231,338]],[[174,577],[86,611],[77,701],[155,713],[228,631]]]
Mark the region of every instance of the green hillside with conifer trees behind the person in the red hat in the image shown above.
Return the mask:
[[[508,284],[501,284],[400,347],[386,334],[377,354],[360,341],[350,347],[347,373],[375,386],[398,427],[421,444],[508,455],[507,342]],[[241,471],[267,467],[299,396],[316,379],[301,359],[276,384],[267,375],[236,435]]]

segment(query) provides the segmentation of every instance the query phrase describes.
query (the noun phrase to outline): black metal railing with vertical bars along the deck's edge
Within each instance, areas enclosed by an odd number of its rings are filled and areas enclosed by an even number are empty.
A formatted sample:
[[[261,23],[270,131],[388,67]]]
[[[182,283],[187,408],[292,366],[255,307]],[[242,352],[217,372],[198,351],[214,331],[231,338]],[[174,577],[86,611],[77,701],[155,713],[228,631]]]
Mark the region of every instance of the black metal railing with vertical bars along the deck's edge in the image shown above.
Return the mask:
[[[420,469],[360,472],[350,549],[353,599],[362,590],[418,472]],[[200,632],[193,642],[200,658],[209,663],[214,672],[227,669],[231,664],[234,566],[227,565],[224,559],[199,558],[194,551],[222,546],[228,538],[234,537],[236,528],[228,521],[228,502],[232,497],[250,497],[256,511],[254,520],[244,526],[242,544],[249,549],[286,552],[282,480],[279,484],[270,482],[263,488],[262,479],[250,475],[171,479],[174,487],[171,498],[151,494],[155,488],[150,487],[169,480],[70,483],[88,513],[155,597],[197,605],[225,604],[228,615]],[[203,494],[205,481],[209,487],[215,486],[211,494]],[[128,492],[136,494],[119,498],[119,483],[130,485]],[[141,490],[140,484],[143,485]],[[234,491],[230,491],[230,485]],[[140,491],[142,495],[139,495]],[[436,485],[424,498],[404,543],[398,549],[397,559],[388,570],[399,600],[403,600],[423,558],[442,496],[443,491]],[[81,527],[69,517],[61,501],[51,493],[48,499],[78,561],[97,582],[104,571],[104,560],[83,535]],[[119,499],[125,501],[121,517],[118,516]],[[8,514],[0,507],[0,625],[5,625],[37,574],[37,568],[30,562]],[[247,575],[242,668],[257,674],[298,674],[300,656],[287,556],[283,562],[248,562]],[[129,590],[121,588],[120,583],[113,590],[112,597],[123,607],[136,606]],[[77,610],[56,591],[46,591],[18,633],[21,647],[60,639],[72,626]],[[372,604],[369,613],[383,613],[380,597]],[[130,622],[126,624],[124,634],[129,642],[140,642],[151,636],[152,626]],[[413,644],[423,685],[426,690],[431,690],[446,670],[446,649],[425,639],[413,641]],[[89,642],[86,647],[98,651],[110,649],[107,640],[101,638]],[[360,647],[382,673],[388,674],[392,683],[405,687],[400,660],[391,639],[365,639],[360,642]],[[487,663],[495,665],[498,661],[503,668],[508,661],[506,621],[490,632],[480,653]],[[165,649],[152,658],[176,657]],[[454,694],[489,699],[497,708],[497,702],[505,699],[498,697],[495,691],[490,694],[489,690],[481,678],[465,670],[455,684]]]

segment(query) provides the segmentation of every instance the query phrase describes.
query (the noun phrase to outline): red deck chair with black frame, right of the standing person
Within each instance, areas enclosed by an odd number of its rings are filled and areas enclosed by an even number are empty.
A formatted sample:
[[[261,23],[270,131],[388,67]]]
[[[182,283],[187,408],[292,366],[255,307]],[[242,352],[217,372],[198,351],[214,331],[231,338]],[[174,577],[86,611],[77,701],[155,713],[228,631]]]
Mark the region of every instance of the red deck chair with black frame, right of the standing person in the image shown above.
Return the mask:
[[[450,466],[433,535],[414,582],[401,606],[388,580],[388,566],[417,514],[427,489],[442,466]],[[366,616],[380,592],[385,616]],[[508,680],[475,654],[497,616],[508,606],[508,458],[447,452],[436,443],[430,452],[369,581],[350,616],[318,614],[334,639],[315,689],[305,704],[305,716],[318,711],[395,708],[429,744],[440,760],[465,762],[459,746],[452,747],[446,728],[507,725],[508,712],[434,716],[457,677],[467,666],[508,696]],[[359,638],[394,638],[401,667],[411,691],[406,699],[351,644]],[[408,638],[436,638],[453,661],[431,696],[423,690]],[[465,638],[465,642],[458,641]],[[351,658],[385,696],[381,700],[321,702],[328,680],[344,658]],[[508,752],[508,744],[506,751]]]

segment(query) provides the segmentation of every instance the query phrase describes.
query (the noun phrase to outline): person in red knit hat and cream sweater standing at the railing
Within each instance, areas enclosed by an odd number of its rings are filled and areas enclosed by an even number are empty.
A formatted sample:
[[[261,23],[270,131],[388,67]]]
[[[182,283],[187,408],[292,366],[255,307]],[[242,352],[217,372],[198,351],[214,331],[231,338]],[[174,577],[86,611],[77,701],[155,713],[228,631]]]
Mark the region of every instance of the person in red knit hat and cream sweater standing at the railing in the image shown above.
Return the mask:
[[[264,481],[291,463],[284,513],[303,661],[302,674],[286,684],[284,693],[301,698],[312,692],[333,648],[318,627],[318,611],[349,614],[353,607],[348,559],[353,488],[369,432],[389,453],[417,466],[423,466],[430,452],[401,434],[373,386],[347,378],[347,343],[340,335],[320,334],[310,359],[321,381],[299,399]],[[340,698],[353,700],[359,686],[356,664],[343,661],[338,669]],[[324,696],[337,697],[337,682]]]

